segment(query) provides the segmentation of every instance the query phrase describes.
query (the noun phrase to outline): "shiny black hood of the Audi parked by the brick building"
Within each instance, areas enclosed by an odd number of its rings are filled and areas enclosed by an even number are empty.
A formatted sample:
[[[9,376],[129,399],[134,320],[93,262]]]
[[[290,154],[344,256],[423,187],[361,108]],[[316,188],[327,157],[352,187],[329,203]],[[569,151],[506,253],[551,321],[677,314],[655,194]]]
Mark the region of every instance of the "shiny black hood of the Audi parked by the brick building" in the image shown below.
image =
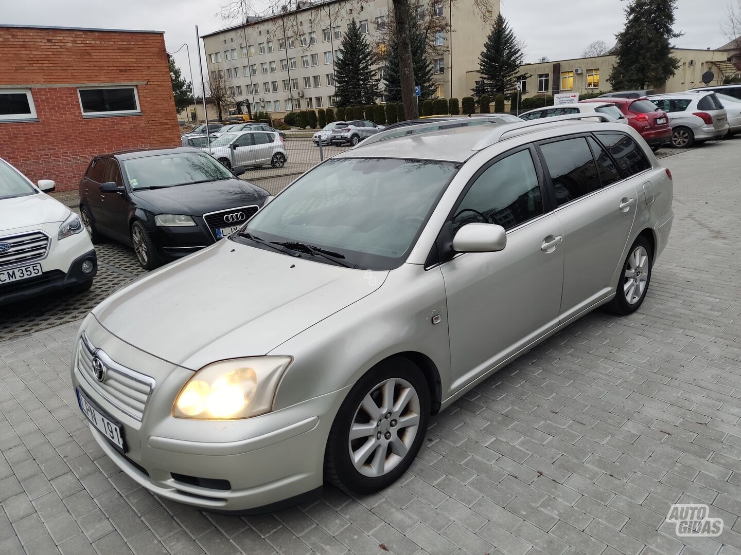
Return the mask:
[[[229,179],[167,189],[144,189],[134,191],[131,197],[135,203],[141,199],[162,214],[201,216],[236,206],[262,206],[268,195],[270,193],[265,189],[247,181]]]

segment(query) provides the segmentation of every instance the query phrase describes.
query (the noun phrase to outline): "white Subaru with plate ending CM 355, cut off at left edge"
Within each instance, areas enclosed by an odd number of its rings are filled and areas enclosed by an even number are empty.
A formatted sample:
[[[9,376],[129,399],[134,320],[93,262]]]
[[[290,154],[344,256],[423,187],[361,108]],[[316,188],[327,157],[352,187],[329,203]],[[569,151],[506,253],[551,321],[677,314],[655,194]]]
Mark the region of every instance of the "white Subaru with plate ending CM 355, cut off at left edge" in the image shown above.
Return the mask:
[[[0,158],[0,305],[58,289],[84,292],[98,271],[79,217]]]

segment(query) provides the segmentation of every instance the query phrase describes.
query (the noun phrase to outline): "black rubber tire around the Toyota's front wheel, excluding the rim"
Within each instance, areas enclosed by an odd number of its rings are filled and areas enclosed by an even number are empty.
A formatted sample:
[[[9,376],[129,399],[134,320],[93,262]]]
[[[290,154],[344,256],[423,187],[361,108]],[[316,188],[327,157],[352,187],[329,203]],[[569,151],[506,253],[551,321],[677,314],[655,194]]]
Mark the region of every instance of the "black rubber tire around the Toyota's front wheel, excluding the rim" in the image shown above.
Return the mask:
[[[414,386],[419,395],[419,428],[417,435],[406,457],[396,468],[382,477],[369,478],[360,474],[350,461],[348,451],[348,435],[355,413],[360,403],[379,383],[391,377],[402,378]],[[407,471],[409,465],[416,458],[419,448],[425,440],[430,420],[430,390],[424,374],[406,357],[394,357],[368,371],[350,390],[345,401],[337,411],[328,442],[326,457],[336,473],[336,480],[342,488],[356,494],[370,494],[386,488]]]

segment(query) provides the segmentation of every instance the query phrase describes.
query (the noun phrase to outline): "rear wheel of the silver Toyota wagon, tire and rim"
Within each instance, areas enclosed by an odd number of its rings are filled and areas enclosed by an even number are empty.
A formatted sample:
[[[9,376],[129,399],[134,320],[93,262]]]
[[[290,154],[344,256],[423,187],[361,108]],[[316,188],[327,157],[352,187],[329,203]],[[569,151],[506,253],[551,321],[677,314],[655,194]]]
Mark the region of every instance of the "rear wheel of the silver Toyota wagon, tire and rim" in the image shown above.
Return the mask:
[[[614,314],[632,314],[642,305],[651,283],[651,266],[654,252],[645,237],[639,237],[631,246],[622,265],[622,277],[618,280],[615,298],[607,305]]]

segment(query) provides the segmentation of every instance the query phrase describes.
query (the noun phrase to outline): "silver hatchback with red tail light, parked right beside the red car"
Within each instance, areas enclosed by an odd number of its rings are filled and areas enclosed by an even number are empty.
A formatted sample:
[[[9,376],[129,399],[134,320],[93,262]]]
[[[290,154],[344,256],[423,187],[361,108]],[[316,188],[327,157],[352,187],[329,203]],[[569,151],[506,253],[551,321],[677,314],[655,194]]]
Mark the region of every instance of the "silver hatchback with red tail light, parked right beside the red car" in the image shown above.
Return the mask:
[[[714,92],[677,92],[646,97],[669,116],[671,146],[691,147],[695,141],[728,133],[728,113]]]

